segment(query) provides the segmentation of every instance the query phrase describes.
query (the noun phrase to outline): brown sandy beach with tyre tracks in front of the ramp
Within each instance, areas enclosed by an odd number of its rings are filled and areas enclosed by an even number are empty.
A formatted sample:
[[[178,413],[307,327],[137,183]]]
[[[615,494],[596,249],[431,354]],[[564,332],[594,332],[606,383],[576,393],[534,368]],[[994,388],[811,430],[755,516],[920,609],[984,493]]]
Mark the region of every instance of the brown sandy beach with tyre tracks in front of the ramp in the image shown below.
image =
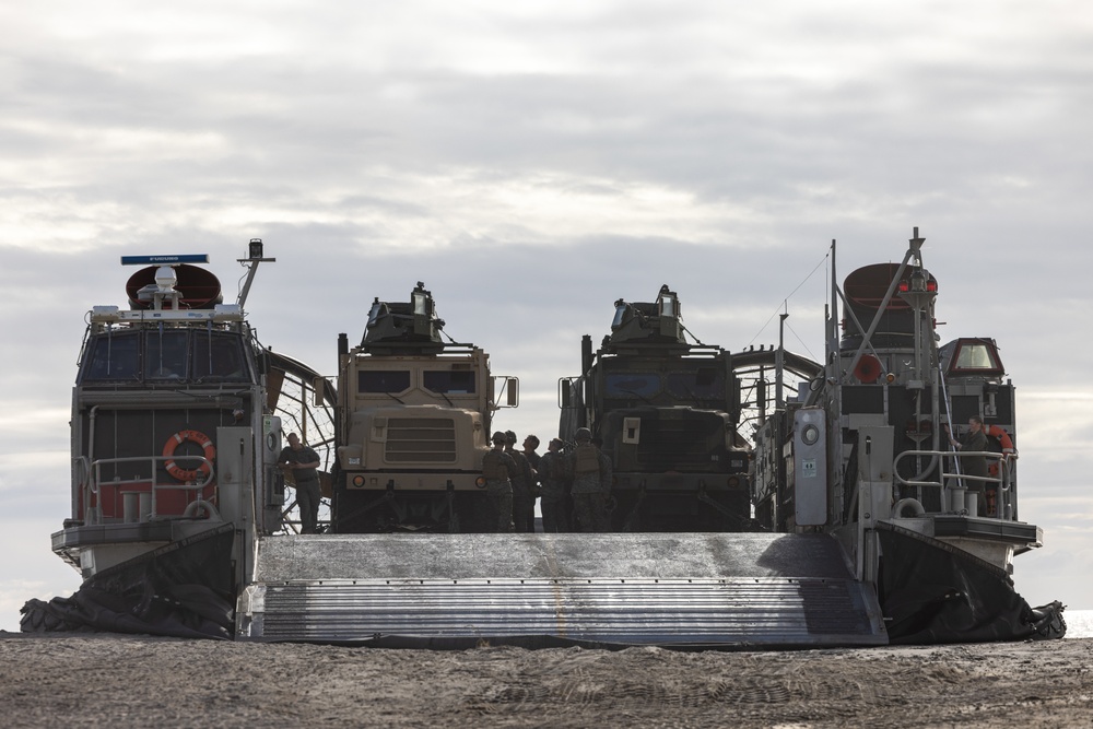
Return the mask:
[[[1093,639],[465,651],[0,632],[14,727],[1074,727]]]

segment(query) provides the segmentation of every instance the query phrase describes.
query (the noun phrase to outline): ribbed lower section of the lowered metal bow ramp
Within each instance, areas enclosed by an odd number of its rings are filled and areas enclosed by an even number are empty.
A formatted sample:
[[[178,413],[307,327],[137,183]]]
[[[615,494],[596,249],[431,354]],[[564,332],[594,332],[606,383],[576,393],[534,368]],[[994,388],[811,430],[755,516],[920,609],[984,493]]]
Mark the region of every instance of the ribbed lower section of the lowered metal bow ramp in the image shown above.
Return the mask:
[[[381,636],[624,645],[875,645],[848,580],[525,579],[294,583],[262,588],[250,637]],[[257,619],[257,620],[254,620]]]

